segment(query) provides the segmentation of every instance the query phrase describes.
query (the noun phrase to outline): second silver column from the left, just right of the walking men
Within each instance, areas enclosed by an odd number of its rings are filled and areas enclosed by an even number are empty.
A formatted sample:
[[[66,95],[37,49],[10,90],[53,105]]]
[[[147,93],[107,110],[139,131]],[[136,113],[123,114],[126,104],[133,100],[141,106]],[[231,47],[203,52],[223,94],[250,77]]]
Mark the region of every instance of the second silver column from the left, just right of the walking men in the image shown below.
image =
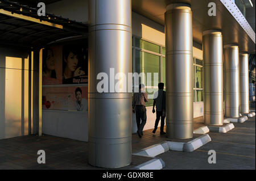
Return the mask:
[[[193,137],[192,11],[189,5],[166,7],[166,106],[170,138]]]

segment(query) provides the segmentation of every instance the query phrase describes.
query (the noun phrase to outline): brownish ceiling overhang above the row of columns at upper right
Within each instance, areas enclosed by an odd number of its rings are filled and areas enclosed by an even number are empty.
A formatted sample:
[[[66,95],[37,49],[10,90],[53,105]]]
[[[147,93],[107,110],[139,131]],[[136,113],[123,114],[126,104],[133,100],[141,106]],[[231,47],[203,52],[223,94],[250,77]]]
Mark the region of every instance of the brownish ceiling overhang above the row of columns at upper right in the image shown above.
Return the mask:
[[[134,12],[164,26],[164,12],[170,3],[188,3],[193,12],[193,40],[202,43],[202,33],[205,30],[221,30],[223,44],[238,44],[241,52],[255,53],[255,40],[237,22],[236,17],[229,12],[220,0],[132,0]],[[208,3],[217,6],[216,16],[208,16]],[[250,26],[250,25],[249,25]],[[255,32],[254,39],[255,39]]]

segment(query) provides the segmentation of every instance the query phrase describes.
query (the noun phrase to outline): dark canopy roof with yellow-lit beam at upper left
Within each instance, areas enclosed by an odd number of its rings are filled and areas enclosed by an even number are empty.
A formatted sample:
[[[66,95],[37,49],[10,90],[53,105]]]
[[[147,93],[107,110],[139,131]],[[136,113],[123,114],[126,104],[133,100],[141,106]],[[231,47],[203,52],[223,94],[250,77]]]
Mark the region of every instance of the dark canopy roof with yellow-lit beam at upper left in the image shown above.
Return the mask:
[[[43,47],[67,37],[84,37],[88,25],[46,14],[18,3],[0,1],[0,44],[19,47]]]

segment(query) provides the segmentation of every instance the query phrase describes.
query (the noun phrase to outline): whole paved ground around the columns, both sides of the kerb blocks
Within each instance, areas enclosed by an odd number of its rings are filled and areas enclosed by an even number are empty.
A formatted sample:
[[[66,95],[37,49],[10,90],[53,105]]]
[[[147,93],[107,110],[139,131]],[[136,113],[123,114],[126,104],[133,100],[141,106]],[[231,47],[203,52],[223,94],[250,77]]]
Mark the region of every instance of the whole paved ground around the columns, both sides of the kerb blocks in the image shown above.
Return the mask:
[[[212,141],[201,148],[186,153],[167,151],[162,158],[164,169],[255,169],[255,117],[245,123],[234,124],[228,133],[209,133]],[[195,124],[195,128],[200,124]],[[162,141],[159,129],[144,131],[143,137],[133,134],[133,153]],[[46,151],[46,163],[38,164],[38,150]],[[208,163],[208,151],[216,151],[216,164]],[[133,155],[133,169],[152,158]],[[88,143],[54,136],[35,135],[0,140],[0,169],[100,169],[88,164]]]

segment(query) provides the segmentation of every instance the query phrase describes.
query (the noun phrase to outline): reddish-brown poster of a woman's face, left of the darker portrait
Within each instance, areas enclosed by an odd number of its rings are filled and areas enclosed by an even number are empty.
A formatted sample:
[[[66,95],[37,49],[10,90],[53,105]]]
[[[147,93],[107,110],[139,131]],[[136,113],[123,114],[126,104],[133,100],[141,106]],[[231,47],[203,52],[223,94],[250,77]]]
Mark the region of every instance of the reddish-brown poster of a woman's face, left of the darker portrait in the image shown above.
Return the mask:
[[[43,49],[43,85],[62,84],[62,46]]]

